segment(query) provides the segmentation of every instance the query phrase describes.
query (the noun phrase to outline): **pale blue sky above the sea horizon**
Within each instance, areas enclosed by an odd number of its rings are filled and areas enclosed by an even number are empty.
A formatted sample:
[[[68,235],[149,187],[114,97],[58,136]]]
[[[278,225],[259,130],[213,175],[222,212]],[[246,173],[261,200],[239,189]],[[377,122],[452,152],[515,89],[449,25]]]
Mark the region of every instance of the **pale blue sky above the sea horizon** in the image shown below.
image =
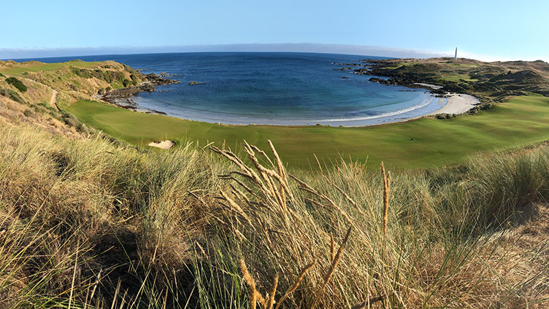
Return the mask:
[[[480,60],[549,61],[548,0],[41,0],[5,1],[2,11],[0,58],[254,48],[438,56],[458,47]]]

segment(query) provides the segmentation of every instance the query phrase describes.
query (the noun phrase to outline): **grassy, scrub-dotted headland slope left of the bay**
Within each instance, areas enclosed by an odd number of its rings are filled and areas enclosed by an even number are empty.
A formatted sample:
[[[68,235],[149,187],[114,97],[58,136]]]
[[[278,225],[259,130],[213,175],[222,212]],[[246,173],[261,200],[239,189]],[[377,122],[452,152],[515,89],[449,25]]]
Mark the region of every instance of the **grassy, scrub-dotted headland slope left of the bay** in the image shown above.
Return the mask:
[[[78,100],[128,98],[167,84],[156,74],[142,74],[115,62],[62,63],[0,61],[0,121],[38,124],[56,133],[78,137],[89,128],[62,111]]]

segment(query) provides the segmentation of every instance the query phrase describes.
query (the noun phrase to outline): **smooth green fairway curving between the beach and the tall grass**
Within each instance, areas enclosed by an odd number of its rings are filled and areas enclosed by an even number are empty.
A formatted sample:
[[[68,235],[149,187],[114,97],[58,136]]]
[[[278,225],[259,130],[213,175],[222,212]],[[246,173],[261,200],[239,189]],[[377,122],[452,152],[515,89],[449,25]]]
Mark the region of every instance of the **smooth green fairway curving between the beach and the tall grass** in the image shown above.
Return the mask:
[[[549,139],[549,98],[512,98],[479,115],[452,119],[423,118],[400,124],[362,128],[327,126],[221,126],[162,115],[128,111],[98,102],[79,101],[67,107],[82,122],[132,144],[173,139],[215,141],[233,149],[246,139],[266,148],[267,139],[285,162],[307,168],[314,161],[337,157],[384,161],[393,168],[428,168],[458,163],[476,152],[516,149]],[[314,163],[316,165],[316,162]]]

